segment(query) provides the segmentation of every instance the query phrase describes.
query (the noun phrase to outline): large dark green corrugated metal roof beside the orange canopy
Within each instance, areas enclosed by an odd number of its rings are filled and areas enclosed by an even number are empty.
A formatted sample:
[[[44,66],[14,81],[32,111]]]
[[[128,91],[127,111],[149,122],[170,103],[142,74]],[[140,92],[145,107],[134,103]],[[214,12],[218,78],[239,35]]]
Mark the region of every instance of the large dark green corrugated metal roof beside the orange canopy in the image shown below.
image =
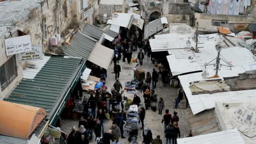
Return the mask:
[[[51,56],[33,80],[23,79],[4,101],[42,107],[50,118],[81,59]],[[58,105],[58,104],[57,104]]]

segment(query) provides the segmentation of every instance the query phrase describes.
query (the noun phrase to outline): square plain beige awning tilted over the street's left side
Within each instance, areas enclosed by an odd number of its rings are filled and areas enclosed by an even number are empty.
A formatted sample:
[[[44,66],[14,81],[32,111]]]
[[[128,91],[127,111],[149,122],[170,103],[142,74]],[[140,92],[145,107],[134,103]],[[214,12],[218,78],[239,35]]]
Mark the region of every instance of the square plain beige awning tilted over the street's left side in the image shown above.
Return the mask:
[[[109,64],[112,60],[114,50],[107,48],[99,43],[96,43],[95,47],[91,51],[88,61],[97,64],[104,69],[108,69]]]

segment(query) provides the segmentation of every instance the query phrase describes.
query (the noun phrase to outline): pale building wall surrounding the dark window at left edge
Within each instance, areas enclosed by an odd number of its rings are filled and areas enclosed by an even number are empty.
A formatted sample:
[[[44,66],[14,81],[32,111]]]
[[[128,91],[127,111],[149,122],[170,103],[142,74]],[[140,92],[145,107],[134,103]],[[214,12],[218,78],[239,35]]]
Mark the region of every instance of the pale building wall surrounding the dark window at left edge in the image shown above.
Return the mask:
[[[17,29],[13,29],[11,32],[14,35],[18,35]],[[10,34],[6,35],[5,38],[11,38]],[[4,38],[0,39],[0,66],[2,66],[12,56],[13,55],[6,56]],[[16,57],[16,67],[17,67],[18,76],[3,91],[1,90],[1,87],[0,87],[0,100],[3,100],[5,96],[17,85],[17,83],[19,83],[19,81],[23,77],[22,64],[18,59],[18,54],[16,54],[15,57]]]

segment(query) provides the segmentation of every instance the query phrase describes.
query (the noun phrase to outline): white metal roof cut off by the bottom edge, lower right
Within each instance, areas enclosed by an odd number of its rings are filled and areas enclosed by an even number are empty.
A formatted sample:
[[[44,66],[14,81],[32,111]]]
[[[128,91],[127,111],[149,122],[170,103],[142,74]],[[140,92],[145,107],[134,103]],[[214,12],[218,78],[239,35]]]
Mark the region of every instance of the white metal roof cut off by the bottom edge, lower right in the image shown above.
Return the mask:
[[[237,129],[177,139],[178,144],[245,144]]]

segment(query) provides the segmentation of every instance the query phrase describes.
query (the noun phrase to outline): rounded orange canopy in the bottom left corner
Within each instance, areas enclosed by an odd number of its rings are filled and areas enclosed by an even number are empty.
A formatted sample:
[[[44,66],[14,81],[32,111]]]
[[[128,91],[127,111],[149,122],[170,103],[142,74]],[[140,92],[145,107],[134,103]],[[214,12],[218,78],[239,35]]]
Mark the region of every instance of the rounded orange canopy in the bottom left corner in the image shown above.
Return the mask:
[[[0,134],[19,139],[29,135],[46,116],[44,108],[0,101]]]

